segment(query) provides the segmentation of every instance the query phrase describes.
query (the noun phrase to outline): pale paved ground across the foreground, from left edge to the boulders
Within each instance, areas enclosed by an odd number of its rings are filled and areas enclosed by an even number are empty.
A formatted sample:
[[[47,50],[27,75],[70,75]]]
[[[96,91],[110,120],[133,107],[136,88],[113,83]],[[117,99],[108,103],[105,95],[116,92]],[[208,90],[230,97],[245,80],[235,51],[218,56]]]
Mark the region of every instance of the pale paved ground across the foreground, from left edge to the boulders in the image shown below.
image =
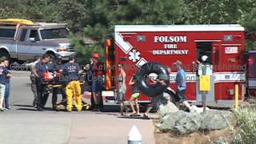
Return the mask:
[[[90,111],[67,113],[50,110],[38,112],[31,107],[29,72],[14,72],[11,80],[12,110],[0,113],[1,144],[58,144],[58,143],[127,143],[133,125],[142,134],[142,143],[154,143],[151,120],[120,118],[117,112]],[[117,110],[111,107],[110,110]]]

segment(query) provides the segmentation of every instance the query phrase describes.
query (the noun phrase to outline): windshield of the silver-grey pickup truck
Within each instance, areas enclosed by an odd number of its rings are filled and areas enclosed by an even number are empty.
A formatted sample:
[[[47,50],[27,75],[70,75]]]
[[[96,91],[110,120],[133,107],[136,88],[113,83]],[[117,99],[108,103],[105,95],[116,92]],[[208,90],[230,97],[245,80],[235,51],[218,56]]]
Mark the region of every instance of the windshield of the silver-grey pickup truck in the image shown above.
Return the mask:
[[[42,39],[67,38],[69,31],[65,28],[40,30]]]

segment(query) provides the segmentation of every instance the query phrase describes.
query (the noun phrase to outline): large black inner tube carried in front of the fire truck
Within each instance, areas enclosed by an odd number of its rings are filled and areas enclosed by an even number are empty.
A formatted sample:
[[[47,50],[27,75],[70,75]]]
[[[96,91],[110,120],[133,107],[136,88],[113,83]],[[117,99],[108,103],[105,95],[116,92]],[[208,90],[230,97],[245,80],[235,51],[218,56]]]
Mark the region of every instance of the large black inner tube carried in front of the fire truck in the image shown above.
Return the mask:
[[[150,74],[157,74],[158,78],[166,82],[166,86],[163,86],[158,82],[154,83],[154,85],[150,85],[147,82],[149,78],[148,76]],[[136,84],[138,85],[138,90],[140,90],[143,94],[146,94],[149,97],[154,97],[159,94],[162,94],[170,83],[168,70],[166,69],[165,66],[162,66],[157,62],[147,62],[146,64],[144,64],[138,70],[137,76],[138,78]]]

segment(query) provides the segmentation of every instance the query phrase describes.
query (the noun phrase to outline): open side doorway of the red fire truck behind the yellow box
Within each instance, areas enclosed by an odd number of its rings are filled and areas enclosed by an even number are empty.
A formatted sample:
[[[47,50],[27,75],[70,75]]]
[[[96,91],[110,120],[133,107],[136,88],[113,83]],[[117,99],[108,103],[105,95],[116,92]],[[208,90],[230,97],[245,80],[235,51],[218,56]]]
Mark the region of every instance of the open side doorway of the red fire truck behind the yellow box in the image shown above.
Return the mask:
[[[206,55],[206,74],[210,74],[210,91],[206,94],[206,102],[214,102],[214,66],[218,57],[218,42],[197,42],[198,80],[197,80],[197,102],[202,102],[202,92],[199,90],[199,75],[202,74],[202,56]],[[211,74],[212,73],[212,74]]]

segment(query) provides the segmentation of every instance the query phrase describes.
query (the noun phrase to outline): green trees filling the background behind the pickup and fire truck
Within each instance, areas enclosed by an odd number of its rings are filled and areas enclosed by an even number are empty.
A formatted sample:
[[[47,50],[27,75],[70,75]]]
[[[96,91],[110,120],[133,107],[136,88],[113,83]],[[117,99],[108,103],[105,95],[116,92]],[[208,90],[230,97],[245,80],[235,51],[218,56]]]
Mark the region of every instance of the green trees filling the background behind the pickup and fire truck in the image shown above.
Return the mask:
[[[70,30],[77,34],[78,38],[86,36],[97,42],[90,48],[78,50],[85,50],[84,53],[89,53],[90,49],[101,51],[102,49],[98,48],[102,48],[104,40],[113,38],[114,25],[240,23],[248,31],[256,30],[255,0],[0,0],[0,2],[0,18],[67,22]],[[255,45],[255,42],[246,42],[248,50],[254,50]]]

